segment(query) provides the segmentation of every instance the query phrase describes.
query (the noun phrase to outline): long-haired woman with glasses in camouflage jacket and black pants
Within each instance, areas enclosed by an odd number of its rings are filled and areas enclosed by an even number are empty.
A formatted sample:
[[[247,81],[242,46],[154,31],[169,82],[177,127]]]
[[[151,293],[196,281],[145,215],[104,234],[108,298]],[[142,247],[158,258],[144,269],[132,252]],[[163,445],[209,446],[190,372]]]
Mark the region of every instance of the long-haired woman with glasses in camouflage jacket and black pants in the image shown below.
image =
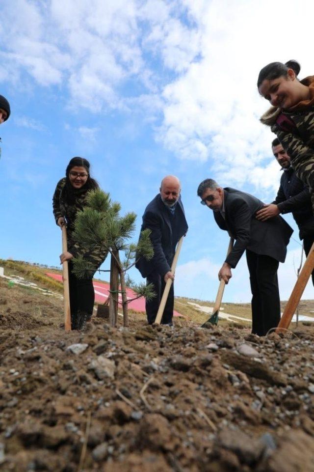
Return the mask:
[[[53,215],[60,228],[67,225],[68,251],[60,255],[60,261],[69,261],[69,290],[72,330],[83,330],[86,321],[90,321],[93,314],[95,292],[93,275],[78,278],[73,273],[73,257],[82,255],[84,259],[99,267],[106,254],[99,249],[87,251],[81,248],[73,236],[74,223],[78,211],[83,210],[86,197],[90,190],[98,189],[98,183],[89,173],[89,162],[81,157],[74,157],[69,162],[65,177],[57,183],[53,194]]]

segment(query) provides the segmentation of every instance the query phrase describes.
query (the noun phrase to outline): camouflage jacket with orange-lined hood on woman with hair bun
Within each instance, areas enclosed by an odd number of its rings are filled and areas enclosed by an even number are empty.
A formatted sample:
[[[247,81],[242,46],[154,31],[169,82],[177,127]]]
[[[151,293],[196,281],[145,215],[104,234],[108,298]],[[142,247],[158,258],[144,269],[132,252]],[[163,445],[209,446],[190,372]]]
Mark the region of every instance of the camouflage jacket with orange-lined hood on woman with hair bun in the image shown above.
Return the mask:
[[[309,83],[310,77],[301,81]],[[312,82],[313,82],[312,80]],[[271,107],[261,117],[270,126],[287,151],[296,175],[310,188],[314,203],[314,105],[299,111],[282,111]]]

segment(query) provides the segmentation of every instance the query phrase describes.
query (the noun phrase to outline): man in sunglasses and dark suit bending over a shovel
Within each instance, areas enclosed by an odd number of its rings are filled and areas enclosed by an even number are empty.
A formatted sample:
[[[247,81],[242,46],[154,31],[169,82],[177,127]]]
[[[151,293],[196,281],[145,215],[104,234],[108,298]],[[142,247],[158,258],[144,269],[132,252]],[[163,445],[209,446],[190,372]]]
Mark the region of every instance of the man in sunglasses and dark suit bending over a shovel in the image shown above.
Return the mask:
[[[252,333],[264,336],[280,321],[277,270],[279,262],[285,262],[293,230],[280,216],[265,222],[257,220],[256,213],[263,208],[261,200],[229,187],[223,189],[212,179],[201,182],[197,194],[202,205],[213,210],[220,229],[235,239],[218,273],[219,280],[229,282],[231,269],[246,251],[252,292]]]

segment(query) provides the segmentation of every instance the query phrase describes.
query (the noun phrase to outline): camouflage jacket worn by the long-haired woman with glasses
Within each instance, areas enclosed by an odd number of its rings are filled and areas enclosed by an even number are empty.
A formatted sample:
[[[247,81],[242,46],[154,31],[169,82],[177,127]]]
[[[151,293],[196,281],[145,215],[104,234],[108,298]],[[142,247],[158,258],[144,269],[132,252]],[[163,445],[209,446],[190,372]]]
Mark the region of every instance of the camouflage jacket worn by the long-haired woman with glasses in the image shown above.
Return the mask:
[[[100,250],[97,247],[95,247],[94,250],[86,250],[85,248],[81,247],[73,237],[73,232],[75,230],[75,219],[78,211],[83,210],[84,206],[86,205],[88,191],[78,192],[75,197],[75,203],[69,204],[64,198],[62,198],[62,190],[65,186],[65,181],[65,177],[59,180],[52,197],[55,222],[57,223],[60,217],[65,218],[67,222],[68,251],[71,252],[71,254],[73,254],[75,257],[83,256],[84,259],[92,262],[96,269],[104,262],[107,253],[104,253],[104,250]]]

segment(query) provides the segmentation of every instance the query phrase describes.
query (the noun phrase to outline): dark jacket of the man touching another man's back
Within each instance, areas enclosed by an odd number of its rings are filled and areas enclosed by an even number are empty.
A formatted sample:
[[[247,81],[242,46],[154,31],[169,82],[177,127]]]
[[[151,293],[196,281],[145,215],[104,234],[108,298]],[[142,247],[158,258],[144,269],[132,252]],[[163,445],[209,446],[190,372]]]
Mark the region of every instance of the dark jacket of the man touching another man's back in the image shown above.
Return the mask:
[[[278,206],[280,213],[292,213],[300,230],[300,239],[314,234],[314,215],[309,187],[296,176],[292,167],[283,171],[273,203]]]

